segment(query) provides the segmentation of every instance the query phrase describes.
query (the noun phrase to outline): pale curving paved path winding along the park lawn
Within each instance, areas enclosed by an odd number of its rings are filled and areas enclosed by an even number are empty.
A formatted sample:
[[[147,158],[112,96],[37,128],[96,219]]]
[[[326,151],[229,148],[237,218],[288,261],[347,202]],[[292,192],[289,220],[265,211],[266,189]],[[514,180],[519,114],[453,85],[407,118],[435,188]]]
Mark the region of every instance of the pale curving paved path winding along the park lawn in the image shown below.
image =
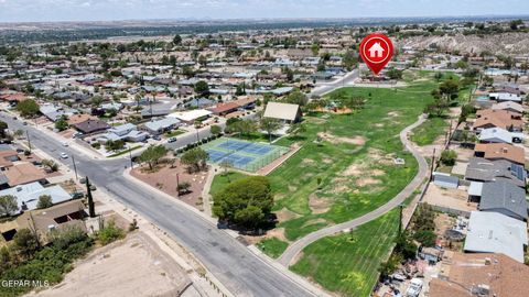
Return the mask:
[[[336,234],[342,230],[353,229],[360,224],[373,221],[379,218],[380,216],[385,215],[386,212],[390,211],[391,209],[398,207],[406,200],[406,198],[410,197],[413,190],[418,188],[421,185],[421,183],[424,180],[424,178],[428,176],[428,163],[424,160],[424,157],[421,155],[421,153],[417,151],[411,144],[411,142],[408,140],[408,132],[410,132],[411,130],[413,130],[414,128],[423,123],[425,119],[427,118],[424,117],[424,114],[421,116],[417,122],[407,127],[404,130],[400,132],[400,141],[404,144],[406,148],[413,154],[413,157],[419,163],[419,172],[417,173],[415,177],[413,177],[413,179],[410,182],[410,184],[406,186],[406,188],[403,188],[397,196],[395,196],[386,205],[377,208],[376,210],[369,213],[366,213],[359,218],[356,218],[347,222],[320,229],[315,232],[312,232],[305,235],[304,238],[296,240],[295,242],[290,244],[289,248],[283,252],[281,257],[278,260],[279,263],[288,267],[292,263],[292,260],[295,257],[295,255],[298,255],[301,251],[303,251],[303,249],[305,249],[305,246],[307,246],[309,244],[320,239]]]

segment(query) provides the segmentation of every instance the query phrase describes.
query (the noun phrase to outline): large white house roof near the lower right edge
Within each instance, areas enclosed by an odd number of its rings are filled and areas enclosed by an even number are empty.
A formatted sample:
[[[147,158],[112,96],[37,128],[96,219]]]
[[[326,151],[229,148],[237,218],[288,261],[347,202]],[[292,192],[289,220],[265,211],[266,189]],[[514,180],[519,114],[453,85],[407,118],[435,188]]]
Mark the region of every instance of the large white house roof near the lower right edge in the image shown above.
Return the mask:
[[[503,253],[523,263],[527,223],[498,212],[472,211],[464,250]]]

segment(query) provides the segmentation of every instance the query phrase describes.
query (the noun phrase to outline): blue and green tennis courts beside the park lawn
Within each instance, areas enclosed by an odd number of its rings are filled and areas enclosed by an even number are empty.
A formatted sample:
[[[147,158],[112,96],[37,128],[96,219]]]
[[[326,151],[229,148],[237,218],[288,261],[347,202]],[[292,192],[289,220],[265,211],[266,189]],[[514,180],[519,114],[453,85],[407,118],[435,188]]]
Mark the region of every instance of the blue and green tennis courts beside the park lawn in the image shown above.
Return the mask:
[[[209,163],[220,164],[227,161],[233,167],[246,172],[257,172],[289,152],[289,148],[283,146],[229,138],[204,144],[203,148],[209,155]]]

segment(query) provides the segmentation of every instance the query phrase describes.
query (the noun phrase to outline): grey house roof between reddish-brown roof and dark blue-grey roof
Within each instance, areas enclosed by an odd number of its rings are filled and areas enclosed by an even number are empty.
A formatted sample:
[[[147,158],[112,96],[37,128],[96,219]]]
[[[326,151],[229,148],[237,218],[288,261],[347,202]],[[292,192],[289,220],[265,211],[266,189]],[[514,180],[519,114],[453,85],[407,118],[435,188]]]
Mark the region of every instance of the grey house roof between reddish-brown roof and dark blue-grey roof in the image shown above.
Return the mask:
[[[465,179],[493,182],[509,179],[518,187],[526,186],[526,170],[522,166],[507,160],[489,161],[483,157],[473,157],[466,166]]]

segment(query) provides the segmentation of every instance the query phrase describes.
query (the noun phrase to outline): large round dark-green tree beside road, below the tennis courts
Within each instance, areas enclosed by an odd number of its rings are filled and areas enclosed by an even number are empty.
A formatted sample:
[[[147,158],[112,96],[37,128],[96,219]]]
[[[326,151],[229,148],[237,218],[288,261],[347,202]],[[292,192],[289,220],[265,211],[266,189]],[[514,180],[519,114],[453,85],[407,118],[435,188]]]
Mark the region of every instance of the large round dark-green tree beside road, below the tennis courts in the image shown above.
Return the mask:
[[[216,193],[213,198],[215,216],[252,230],[264,223],[273,205],[270,182],[264,176],[236,180]]]

